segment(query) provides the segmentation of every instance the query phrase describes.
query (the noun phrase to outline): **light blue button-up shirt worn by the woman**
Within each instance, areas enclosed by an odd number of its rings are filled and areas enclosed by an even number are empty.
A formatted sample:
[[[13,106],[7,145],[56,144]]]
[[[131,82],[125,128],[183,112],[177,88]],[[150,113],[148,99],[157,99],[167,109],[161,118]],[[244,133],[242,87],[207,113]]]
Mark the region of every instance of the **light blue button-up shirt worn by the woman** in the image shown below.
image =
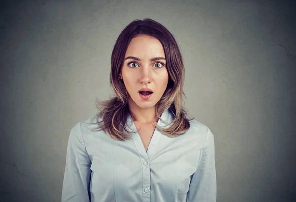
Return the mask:
[[[173,117],[166,110],[157,125],[167,128]],[[146,152],[138,133],[118,141],[90,130],[96,121],[71,129],[62,202],[216,202],[214,136],[206,125],[193,120],[177,137],[155,130]],[[136,130],[130,115],[127,124]]]

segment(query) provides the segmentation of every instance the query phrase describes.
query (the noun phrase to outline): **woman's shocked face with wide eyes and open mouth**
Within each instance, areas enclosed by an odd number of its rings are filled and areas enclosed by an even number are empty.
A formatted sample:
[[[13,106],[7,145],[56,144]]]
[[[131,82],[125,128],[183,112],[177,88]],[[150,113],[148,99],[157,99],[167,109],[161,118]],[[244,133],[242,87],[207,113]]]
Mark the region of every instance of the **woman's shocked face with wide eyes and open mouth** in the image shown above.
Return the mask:
[[[155,59],[157,57],[163,59]],[[162,97],[169,77],[162,44],[151,36],[137,36],[131,40],[124,59],[121,75],[129,105],[142,109],[154,107]],[[139,93],[142,88],[153,92],[146,100]]]

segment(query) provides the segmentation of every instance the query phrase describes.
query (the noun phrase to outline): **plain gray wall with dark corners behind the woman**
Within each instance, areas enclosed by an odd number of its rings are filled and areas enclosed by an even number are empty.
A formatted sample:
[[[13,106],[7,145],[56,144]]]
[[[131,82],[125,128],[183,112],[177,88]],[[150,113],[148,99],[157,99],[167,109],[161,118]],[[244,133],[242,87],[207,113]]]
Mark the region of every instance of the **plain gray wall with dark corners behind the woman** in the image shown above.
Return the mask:
[[[296,3],[1,1],[0,201],[61,199],[70,129],[108,99],[122,29],[176,37],[185,107],[215,135],[217,202],[295,202]]]

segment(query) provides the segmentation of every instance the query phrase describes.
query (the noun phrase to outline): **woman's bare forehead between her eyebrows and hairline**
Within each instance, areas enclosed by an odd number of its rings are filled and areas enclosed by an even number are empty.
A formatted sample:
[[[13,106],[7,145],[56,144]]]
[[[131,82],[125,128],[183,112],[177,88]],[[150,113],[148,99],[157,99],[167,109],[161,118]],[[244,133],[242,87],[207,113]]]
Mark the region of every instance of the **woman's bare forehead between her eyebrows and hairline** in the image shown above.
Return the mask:
[[[137,36],[133,38],[126,50],[125,56],[135,56],[148,59],[152,57],[165,57],[162,44],[152,36]]]

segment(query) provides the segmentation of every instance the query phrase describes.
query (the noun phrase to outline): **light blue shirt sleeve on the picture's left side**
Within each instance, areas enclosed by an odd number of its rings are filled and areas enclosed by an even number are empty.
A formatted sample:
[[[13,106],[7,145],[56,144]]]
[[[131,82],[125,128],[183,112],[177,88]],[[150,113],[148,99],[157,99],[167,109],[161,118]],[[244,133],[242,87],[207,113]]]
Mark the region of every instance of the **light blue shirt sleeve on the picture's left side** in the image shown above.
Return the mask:
[[[77,123],[69,135],[62,202],[89,202],[91,161],[85,149],[80,124]]]

